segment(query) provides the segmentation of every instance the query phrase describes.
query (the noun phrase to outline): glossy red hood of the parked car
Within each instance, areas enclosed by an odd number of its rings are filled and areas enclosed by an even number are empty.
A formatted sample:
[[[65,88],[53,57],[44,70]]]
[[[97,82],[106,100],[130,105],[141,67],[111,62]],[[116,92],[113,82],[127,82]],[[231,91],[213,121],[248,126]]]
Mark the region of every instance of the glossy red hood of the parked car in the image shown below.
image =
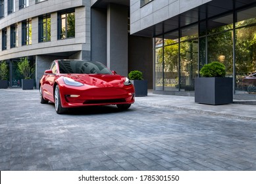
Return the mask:
[[[122,87],[125,78],[111,74],[68,74],[66,77],[95,87]]]

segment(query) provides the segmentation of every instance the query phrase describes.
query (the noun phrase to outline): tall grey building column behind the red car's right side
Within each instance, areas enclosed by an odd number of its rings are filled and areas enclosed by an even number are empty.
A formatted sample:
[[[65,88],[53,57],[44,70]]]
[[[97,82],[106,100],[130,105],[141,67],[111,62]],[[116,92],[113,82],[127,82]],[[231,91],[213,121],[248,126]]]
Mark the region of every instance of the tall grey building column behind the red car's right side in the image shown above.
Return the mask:
[[[128,7],[107,7],[107,66],[128,76]]]

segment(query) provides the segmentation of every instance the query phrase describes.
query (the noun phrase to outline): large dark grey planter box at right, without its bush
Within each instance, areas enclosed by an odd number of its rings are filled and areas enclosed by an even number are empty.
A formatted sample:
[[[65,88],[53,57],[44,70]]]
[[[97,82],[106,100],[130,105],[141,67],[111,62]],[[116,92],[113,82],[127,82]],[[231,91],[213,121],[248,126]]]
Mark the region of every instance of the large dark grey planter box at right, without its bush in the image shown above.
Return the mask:
[[[233,78],[195,78],[195,103],[233,103]]]

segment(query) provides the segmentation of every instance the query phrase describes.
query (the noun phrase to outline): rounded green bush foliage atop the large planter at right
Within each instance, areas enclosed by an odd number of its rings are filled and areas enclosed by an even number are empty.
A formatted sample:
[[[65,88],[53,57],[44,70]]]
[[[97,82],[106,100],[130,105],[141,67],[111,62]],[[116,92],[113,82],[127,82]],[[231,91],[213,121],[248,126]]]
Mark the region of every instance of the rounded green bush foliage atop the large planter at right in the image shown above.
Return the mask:
[[[204,78],[224,78],[226,76],[226,67],[221,62],[211,62],[201,68],[200,75]]]

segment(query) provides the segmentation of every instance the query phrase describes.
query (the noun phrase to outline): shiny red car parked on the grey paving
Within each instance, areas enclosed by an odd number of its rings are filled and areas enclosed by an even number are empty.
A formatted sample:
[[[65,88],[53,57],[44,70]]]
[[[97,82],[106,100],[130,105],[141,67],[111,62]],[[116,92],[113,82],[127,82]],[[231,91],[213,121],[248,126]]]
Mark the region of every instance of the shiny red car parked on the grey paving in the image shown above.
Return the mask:
[[[55,103],[57,114],[68,108],[116,104],[122,110],[134,103],[134,85],[100,62],[54,60],[39,83],[42,104]]]

